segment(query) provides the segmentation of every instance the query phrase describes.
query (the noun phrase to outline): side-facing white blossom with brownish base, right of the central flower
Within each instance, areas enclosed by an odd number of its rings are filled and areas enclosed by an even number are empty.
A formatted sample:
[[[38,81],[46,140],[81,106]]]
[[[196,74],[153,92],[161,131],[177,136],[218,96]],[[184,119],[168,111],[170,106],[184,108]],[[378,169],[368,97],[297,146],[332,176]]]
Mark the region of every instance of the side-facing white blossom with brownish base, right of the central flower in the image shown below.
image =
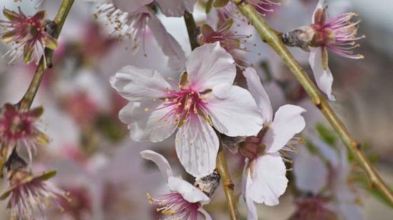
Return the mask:
[[[287,188],[283,162],[288,161],[285,151],[295,151],[293,145],[301,141],[292,137],[305,127],[301,116],[305,109],[285,104],[276,111],[273,119],[270,100],[256,71],[249,67],[243,74],[250,93],[263,113],[264,129],[257,136],[247,137],[240,148],[241,153],[248,157],[243,172],[243,197],[247,203],[248,219],[256,220],[258,216],[254,203],[275,206]]]

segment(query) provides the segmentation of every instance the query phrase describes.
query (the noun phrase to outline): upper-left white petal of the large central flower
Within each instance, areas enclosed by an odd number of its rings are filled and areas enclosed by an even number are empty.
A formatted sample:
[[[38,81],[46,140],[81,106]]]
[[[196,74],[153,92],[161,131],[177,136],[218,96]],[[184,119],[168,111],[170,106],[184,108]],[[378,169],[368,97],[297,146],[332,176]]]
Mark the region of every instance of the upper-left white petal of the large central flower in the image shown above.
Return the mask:
[[[169,83],[155,70],[123,67],[110,78],[110,85],[132,102],[153,100],[167,96]]]

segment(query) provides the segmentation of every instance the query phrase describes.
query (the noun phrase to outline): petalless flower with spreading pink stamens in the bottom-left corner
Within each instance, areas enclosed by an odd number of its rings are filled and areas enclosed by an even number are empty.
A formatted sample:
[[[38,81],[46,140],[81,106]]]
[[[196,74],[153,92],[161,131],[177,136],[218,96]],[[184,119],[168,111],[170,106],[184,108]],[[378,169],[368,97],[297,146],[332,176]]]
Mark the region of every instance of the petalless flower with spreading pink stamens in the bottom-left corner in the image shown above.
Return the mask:
[[[8,173],[10,186],[1,194],[0,199],[8,200],[11,209],[11,219],[34,219],[37,208],[43,218],[44,210],[52,205],[61,207],[59,199],[70,201],[68,192],[57,188],[47,179],[56,175],[56,171],[48,171],[32,175],[31,170],[23,167]]]

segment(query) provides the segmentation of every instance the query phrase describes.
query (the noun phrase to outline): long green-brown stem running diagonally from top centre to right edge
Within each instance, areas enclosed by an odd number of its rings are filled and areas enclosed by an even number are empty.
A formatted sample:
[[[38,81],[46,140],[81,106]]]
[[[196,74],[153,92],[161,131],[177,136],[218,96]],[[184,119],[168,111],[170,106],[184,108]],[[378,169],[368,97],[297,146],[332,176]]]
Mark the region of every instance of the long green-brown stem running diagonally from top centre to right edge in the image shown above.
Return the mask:
[[[290,69],[294,76],[299,80],[299,83],[303,86],[305,91],[315,106],[320,109],[325,118],[330,122],[334,130],[341,137],[341,140],[345,143],[345,146],[352,152],[356,161],[363,168],[368,179],[370,179],[370,186],[379,190],[389,201],[390,205],[393,205],[393,193],[388,188],[376,172],[376,169],[370,161],[367,159],[363,151],[361,151],[361,144],[356,142],[350,132],[345,127],[345,124],[340,120],[339,116],[333,111],[332,107],[323,98],[321,92],[316,88],[312,80],[308,77],[304,69],[295,60],[294,56],[288,51],[281,39],[281,33],[277,32],[268,25],[255,11],[252,5],[245,3],[242,0],[232,0],[236,6],[241,10],[245,17],[248,18],[250,23],[254,25],[254,28],[259,32],[263,42],[268,43],[276,53],[281,57],[285,65]]]

